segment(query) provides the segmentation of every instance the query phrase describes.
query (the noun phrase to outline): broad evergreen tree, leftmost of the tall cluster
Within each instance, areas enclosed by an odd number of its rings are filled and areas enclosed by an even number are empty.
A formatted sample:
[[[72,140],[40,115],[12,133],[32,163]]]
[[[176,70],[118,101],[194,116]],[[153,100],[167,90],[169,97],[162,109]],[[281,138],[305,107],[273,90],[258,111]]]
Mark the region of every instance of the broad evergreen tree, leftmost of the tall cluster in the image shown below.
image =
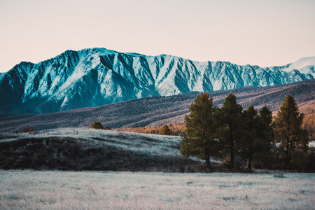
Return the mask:
[[[206,160],[210,168],[210,155],[216,155],[216,106],[212,104],[209,94],[197,95],[190,105],[190,115],[185,116],[186,136],[181,141],[181,155],[190,157],[197,155],[198,158]]]

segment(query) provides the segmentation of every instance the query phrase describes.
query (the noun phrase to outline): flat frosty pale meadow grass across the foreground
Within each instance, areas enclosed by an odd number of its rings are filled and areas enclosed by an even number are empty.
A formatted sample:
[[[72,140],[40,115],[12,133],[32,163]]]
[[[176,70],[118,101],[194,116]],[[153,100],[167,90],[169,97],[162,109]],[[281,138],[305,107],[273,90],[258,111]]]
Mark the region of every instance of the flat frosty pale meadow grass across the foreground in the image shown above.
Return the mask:
[[[0,170],[0,209],[315,209],[314,179]]]

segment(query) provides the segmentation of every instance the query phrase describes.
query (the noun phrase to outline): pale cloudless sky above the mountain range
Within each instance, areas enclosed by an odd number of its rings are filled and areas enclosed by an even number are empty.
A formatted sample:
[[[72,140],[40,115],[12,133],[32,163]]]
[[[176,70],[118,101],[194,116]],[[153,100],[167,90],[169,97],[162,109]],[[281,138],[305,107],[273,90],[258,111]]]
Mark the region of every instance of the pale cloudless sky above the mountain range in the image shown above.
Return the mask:
[[[0,72],[102,47],[273,66],[315,56],[314,0],[0,0]]]

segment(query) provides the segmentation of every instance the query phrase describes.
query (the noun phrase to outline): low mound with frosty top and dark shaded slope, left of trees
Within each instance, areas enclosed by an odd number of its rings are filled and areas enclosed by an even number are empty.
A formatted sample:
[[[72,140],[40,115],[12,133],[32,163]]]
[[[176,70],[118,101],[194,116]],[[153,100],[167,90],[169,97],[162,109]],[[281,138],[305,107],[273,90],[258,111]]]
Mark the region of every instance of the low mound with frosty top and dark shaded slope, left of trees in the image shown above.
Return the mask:
[[[0,133],[0,169],[192,172],[200,162],[181,157],[180,141],[181,137],[74,127]]]

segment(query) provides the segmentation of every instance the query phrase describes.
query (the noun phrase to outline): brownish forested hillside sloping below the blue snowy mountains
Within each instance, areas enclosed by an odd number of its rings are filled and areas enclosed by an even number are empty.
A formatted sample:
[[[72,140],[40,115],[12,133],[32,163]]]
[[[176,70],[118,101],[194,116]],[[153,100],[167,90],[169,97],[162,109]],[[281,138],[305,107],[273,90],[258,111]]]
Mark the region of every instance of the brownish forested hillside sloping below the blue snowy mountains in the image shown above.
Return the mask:
[[[209,92],[214,105],[223,104],[229,92],[237,96],[237,102],[244,109],[253,104],[255,109],[267,105],[275,112],[279,110],[286,95],[291,94],[305,114],[315,113],[315,80],[306,80],[271,87],[242,87],[234,90]],[[22,131],[24,127],[47,130],[58,127],[88,127],[95,121],[104,126],[155,127],[170,123],[182,123],[183,116],[189,113],[189,106],[199,92],[189,92],[169,97],[146,97],[127,102],[85,107],[57,113],[13,114],[0,113],[0,132]],[[304,106],[304,107],[303,107]],[[301,109],[303,108],[303,109]]]

